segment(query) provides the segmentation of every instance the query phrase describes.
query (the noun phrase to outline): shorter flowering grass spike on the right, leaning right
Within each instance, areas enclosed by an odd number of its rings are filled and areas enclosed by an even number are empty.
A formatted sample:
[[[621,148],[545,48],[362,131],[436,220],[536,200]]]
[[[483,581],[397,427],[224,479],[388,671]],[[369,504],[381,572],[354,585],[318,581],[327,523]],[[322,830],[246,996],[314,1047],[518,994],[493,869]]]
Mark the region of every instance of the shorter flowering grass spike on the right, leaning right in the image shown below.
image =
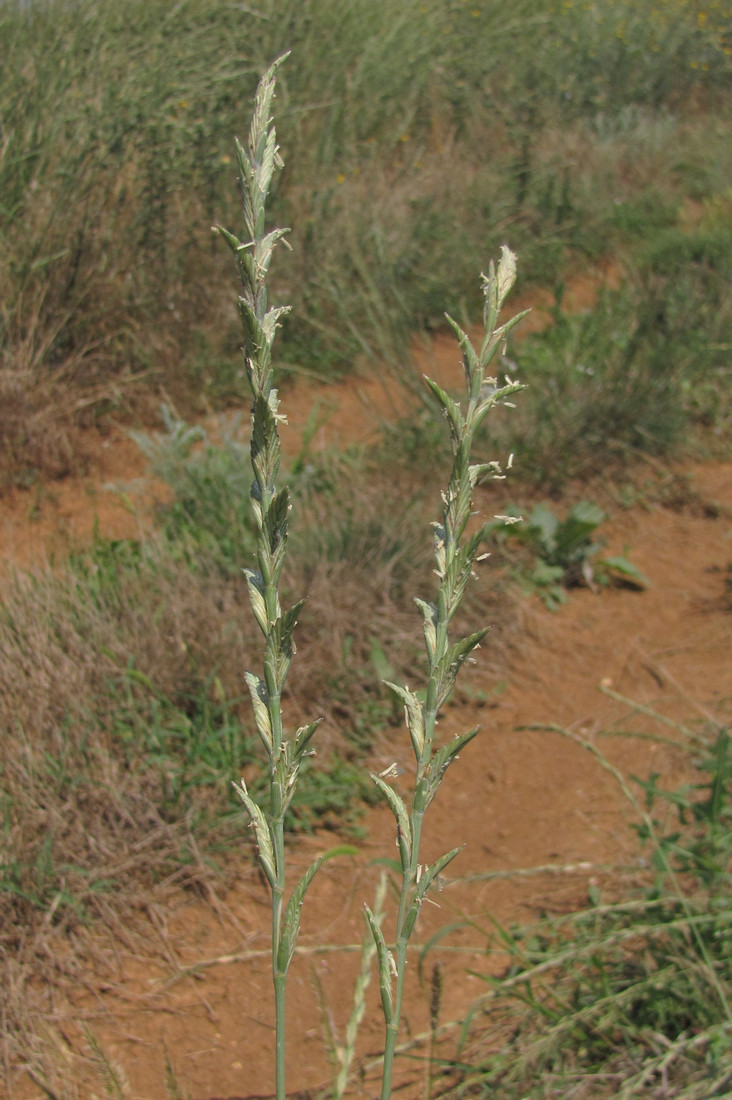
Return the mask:
[[[378,946],[381,999],[386,1024],[382,1100],[387,1100],[392,1092],[394,1052],[401,1021],[408,942],[429,887],[460,850],[454,848],[429,867],[419,864],[419,843],[425,813],[439,789],[447,768],[478,733],[477,727],[458,735],[446,745],[440,747],[435,745],[438,715],[452,693],[458,672],[488,634],[488,628],[483,628],[452,641],[449,631],[487,532],[487,525],[483,524],[467,536],[472,514],[473,490],[488,477],[503,476],[498,462],[471,464],[473,437],[488,414],[496,406],[511,405],[510,398],[522,388],[518,383],[510,378],[500,385],[496,378],[487,373],[496,351],[504,344],[506,336],[524,316],[517,314],[499,326],[499,314],[515,278],[515,257],[504,248],[498,268],[491,262],[488,276],[483,276],[485,334],[480,351],[473,348],[467,333],[450,321],[462,352],[466,375],[465,406],[461,408],[436,382],[427,380],[427,385],[450,426],[454,461],[447,492],[443,494],[445,505],[443,519],[441,522],[435,524],[435,573],[439,579],[437,600],[435,602],[417,600],[417,606],[424,617],[428,666],[424,702],[408,688],[389,684],[404,704],[416,761],[411,806],[407,809],[394,788],[384,781],[384,776],[373,777],[396,820],[402,875],[393,954],[387,950],[380,926],[367,910]]]

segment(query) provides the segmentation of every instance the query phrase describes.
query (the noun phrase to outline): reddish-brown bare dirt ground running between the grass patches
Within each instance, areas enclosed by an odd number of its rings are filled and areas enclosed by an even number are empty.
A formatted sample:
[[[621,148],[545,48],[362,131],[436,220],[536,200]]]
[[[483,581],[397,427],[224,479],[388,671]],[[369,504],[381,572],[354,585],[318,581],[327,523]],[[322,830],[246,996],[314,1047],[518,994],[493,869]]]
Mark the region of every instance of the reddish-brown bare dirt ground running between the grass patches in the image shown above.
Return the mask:
[[[439,361],[439,374],[443,361],[454,365],[454,345],[429,358]],[[323,408],[320,446],[356,435],[368,438],[384,403],[396,400],[389,387],[367,381],[346,396],[323,388],[303,394],[289,404],[293,435],[288,441],[285,430],[283,439],[291,449],[314,398]],[[329,417],[329,409],[337,415]],[[6,569],[62,556],[90,538],[95,527],[124,537],[144,526],[145,509],[162,488],[146,476],[134,444],[119,432],[89,447],[97,452],[88,477],[0,501]],[[457,845],[465,849],[434,904],[423,908],[416,939],[422,945],[435,939],[423,959],[422,981],[418,949],[411,959],[400,1096],[425,1094],[429,976],[436,963],[444,988],[440,1052],[449,1057],[459,1035],[456,1022],[487,992],[481,975],[499,971],[504,963],[493,922],[527,922],[547,910],[577,906],[590,884],[612,891],[612,867],[638,866],[643,859],[630,825],[632,807],[571,735],[597,746],[624,773],[645,777],[653,770],[663,785],[674,787],[684,779],[685,756],[670,745],[620,736],[651,727],[618,696],[693,728],[730,717],[732,463],[696,464],[681,473],[681,499],[615,507],[603,525],[608,551],[627,553],[649,587],[578,590],[558,613],[527,598],[513,641],[491,654],[489,636],[483,660],[443,719],[445,738],[476,724],[482,730],[448,772],[425,821],[425,862]],[[117,490],[110,492],[107,484]],[[565,734],[527,728],[535,725],[561,727]],[[675,736],[670,728],[665,733]],[[407,747],[405,732],[394,746],[382,740],[372,768],[398,762],[404,773],[396,784],[406,785]],[[365,827],[359,854],[326,862],[304,905],[289,983],[292,1093],[315,1094],[330,1079],[327,1022],[342,1036],[364,932],[363,903],[373,903],[381,873],[376,861],[395,854],[387,810],[371,811]],[[340,843],[324,834],[293,844],[289,881],[315,855]],[[516,873],[531,868],[544,870]],[[393,912],[392,900],[387,912]],[[269,922],[267,894],[242,820],[241,851],[231,857],[226,889],[212,879],[207,897],[161,888],[124,924],[56,942],[50,972],[55,967],[68,971],[73,958],[76,976],[58,985],[48,1021],[46,1040],[57,1050],[58,1080],[67,1087],[75,1082],[83,1100],[105,1094],[78,1057],[84,1023],[123,1067],[135,1100],[271,1096]],[[384,927],[389,938],[389,916]],[[438,937],[445,927],[449,931]],[[375,981],[367,1002],[350,1094],[371,1098],[379,1093],[382,1044]],[[166,1092],[166,1059],[177,1093],[170,1078]],[[9,1068],[12,1100],[44,1094]]]

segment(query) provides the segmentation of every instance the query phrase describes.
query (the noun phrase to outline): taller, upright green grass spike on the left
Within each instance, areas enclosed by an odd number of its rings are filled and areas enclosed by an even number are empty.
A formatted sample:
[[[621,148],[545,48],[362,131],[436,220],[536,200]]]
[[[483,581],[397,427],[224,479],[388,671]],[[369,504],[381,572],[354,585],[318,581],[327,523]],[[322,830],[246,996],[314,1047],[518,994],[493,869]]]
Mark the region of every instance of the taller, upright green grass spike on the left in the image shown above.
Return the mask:
[[[285,55],[286,56],[286,55]],[[256,89],[254,114],[244,147],[237,142],[237,161],[244,215],[245,238],[239,241],[219,232],[233,252],[242,284],[239,315],[244,334],[244,361],[252,389],[251,460],[254,481],[252,514],[256,527],[258,569],[247,569],[247,584],[254,618],[264,635],[264,675],[245,673],[256,729],[264,746],[270,778],[270,804],[262,810],[244,779],[237,787],[254,829],[256,855],[272,892],[272,979],[275,1003],[275,1087],[277,1100],[285,1090],[285,992],[287,970],[297,943],[303,900],[321,858],[305,872],[285,901],[285,813],[295,793],[298,772],[310,754],[309,743],[319,721],[287,736],[282,719],[282,693],[289,671],[293,631],[304,600],[283,610],[280,576],[285,562],[289,493],[277,484],[281,444],[277,432],[280,402],[274,387],[272,344],[285,307],[269,307],[266,274],[275,245],[287,230],[265,232],[265,202],[275,168],[282,167],[270,111],[275,74],[284,56],[267,70]]]

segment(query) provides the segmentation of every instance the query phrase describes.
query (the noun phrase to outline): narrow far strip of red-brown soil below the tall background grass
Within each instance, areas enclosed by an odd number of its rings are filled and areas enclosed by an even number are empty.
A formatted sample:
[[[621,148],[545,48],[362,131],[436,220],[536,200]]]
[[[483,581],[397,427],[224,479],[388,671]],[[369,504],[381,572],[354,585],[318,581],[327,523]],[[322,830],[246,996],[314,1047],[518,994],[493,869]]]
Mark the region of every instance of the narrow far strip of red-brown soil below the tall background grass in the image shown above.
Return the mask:
[[[576,276],[567,287],[568,310],[589,308],[599,286],[616,286],[620,268],[608,262],[603,268]],[[545,328],[550,321],[551,295],[533,290],[525,301],[512,304],[512,312],[531,307],[517,334]],[[440,384],[458,383],[460,355],[451,334],[438,337],[414,350],[414,362],[405,367],[419,385],[419,373]],[[296,454],[306,429],[315,418],[309,446],[314,449],[369,443],[379,437],[384,418],[408,414],[414,398],[390,370],[369,370],[348,385],[301,382],[287,392],[283,409],[283,448]],[[218,422],[206,425],[216,438]],[[123,427],[106,436],[87,432],[77,437],[83,451],[78,465],[85,476],[40,482],[30,490],[14,488],[0,496],[0,576],[12,568],[36,566],[62,559],[74,547],[88,542],[98,530],[107,538],[135,538],[144,530],[155,501],[165,486],[149,475],[148,463]]]

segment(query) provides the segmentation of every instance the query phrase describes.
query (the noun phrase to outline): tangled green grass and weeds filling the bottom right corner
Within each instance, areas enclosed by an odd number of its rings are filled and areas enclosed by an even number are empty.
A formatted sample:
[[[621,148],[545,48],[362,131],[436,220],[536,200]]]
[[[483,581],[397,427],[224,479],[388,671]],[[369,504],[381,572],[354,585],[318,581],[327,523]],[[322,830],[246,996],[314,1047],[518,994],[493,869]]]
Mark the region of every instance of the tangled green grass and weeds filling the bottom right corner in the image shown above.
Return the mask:
[[[551,728],[614,771],[594,745]],[[635,779],[634,790],[614,772],[647,870],[630,872],[620,901],[592,889],[587,909],[501,930],[511,964],[503,978],[489,979],[485,1007],[491,1021],[509,1023],[506,1042],[482,1065],[477,1058],[450,1096],[729,1096],[730,737],[722,725],[701,736],[677,726],[675,736],[696,763],[696,781],[668,791],[653,774]]]

